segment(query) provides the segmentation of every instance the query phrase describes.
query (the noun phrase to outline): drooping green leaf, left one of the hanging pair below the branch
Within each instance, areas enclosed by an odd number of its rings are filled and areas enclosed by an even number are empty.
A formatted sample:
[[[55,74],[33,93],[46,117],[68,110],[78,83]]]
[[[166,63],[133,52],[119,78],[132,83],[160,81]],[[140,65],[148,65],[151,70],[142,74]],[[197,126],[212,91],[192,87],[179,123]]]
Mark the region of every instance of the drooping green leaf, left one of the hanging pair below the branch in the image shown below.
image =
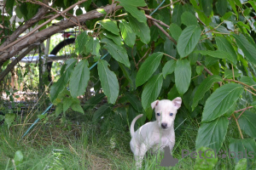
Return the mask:
[[[73,75],[69,81],[70,94],[73,98],[84,94],[90,79],[90,70],[87,59],[83,59],[74,68]]]

